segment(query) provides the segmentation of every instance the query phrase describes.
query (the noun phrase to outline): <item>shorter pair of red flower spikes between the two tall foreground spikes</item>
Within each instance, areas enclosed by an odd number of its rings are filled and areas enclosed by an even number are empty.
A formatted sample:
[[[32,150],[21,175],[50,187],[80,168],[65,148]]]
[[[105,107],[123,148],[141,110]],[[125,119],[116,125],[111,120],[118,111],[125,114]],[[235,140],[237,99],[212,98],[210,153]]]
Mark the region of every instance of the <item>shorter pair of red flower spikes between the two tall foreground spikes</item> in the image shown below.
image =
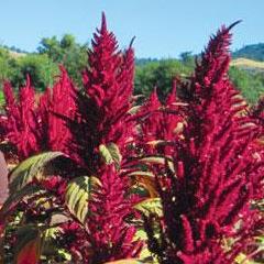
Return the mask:
[[[138,146],[142,146],[144,155],[172,155],[173,145],[182,136],[184,112],[176,97],[177,80],[173,81],[172,91],[164,103],[161,103],[156,89],[138,113],[140,133]]]

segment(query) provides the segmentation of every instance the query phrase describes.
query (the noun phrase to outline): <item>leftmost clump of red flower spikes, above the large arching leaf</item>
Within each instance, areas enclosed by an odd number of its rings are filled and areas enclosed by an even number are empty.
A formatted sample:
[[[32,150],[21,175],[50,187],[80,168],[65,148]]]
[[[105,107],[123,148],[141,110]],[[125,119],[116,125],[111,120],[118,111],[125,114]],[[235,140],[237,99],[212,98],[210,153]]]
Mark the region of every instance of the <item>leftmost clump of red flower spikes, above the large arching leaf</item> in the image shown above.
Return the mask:
[[[6,117],[1,117],[3,139],[15,146],[18,156],[23,160],[41,151],[42,133],[41,124],[35,113],[35,92],[31,86],[30,77],[26,84],[19,90],[15,100],[10,82],[4,82]]]

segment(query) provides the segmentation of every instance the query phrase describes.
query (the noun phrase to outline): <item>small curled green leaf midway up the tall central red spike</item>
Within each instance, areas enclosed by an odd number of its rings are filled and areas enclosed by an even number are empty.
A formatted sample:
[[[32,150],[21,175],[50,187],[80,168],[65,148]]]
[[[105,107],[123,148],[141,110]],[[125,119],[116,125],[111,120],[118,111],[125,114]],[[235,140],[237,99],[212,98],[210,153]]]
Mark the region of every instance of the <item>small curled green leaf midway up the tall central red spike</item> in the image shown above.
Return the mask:
[[[114,143],[109,143],[107,145],[101,144],[99,146],[99,153],[106,164],[116,164],[119,167],[122,156],[120,154],[119,147]]]

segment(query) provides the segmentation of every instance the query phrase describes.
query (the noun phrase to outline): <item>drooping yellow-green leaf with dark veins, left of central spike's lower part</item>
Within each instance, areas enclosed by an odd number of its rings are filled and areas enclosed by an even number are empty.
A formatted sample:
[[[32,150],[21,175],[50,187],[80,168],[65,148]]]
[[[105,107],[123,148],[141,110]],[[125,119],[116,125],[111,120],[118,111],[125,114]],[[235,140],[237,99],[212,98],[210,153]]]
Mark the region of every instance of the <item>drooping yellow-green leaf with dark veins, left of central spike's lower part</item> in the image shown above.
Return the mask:
[[[69,182],[65,201],[69,211],[80,221],[85,222],[88,216],[88,204],[95,191],[100,185],[97,177],[81,176]]]

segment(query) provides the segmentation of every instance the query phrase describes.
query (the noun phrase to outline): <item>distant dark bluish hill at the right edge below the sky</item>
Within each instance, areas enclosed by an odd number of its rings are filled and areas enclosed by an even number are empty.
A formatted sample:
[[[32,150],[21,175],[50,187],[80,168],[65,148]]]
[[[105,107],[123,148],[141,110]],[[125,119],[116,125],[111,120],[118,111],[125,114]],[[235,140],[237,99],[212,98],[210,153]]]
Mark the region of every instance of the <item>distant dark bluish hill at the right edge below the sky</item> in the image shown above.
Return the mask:
[[[264,43],[246,45],[233,52],[233,58],[239,57],[264,62]]]

